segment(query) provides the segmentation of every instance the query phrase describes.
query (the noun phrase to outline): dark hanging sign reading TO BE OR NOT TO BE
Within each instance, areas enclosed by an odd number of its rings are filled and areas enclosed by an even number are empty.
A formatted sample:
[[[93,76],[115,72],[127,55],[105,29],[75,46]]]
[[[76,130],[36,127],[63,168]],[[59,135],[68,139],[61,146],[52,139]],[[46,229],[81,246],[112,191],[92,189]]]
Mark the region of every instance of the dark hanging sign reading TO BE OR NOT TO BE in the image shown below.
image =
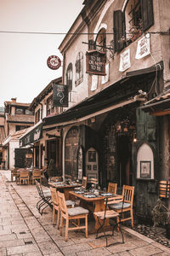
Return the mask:
[[[105,53],[97,50],[86,53],[86,73],[105,76]]]

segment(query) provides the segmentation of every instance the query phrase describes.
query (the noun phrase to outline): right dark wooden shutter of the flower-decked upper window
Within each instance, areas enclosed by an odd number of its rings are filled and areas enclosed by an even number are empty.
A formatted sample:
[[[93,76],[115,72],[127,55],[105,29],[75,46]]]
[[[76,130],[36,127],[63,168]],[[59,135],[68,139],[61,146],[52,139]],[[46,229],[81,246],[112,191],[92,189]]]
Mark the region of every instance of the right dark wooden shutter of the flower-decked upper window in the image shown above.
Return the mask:
[[[141,1],[143,31],[146,31],[148,28],[150,28],[150,26],[154,24],[153,0],[140,0],[140,1]]]

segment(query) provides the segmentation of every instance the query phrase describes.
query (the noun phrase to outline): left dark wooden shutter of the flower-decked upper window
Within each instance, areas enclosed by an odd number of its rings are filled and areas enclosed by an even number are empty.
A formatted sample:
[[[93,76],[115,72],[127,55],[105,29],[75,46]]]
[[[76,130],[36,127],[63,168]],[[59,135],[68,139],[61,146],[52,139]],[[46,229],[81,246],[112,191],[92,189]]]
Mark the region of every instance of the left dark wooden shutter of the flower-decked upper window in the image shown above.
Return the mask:
[[[113,15],[113,20],[114,20],[114,44],[115,44],[115,51],[120,51],[123,49],[123,42],[120,42],[120,39],[123,36],[124,32],[124,15],[122,14],[122,10],[118,9],[114,11]]]

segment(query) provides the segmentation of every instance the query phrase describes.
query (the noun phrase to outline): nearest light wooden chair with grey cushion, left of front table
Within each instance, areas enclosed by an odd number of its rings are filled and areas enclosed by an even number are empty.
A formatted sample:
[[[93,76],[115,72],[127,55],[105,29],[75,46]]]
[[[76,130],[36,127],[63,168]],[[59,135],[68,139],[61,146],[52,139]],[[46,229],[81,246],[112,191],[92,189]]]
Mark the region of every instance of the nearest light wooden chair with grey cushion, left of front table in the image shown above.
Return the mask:
[[[82,207],[67,208],[65,203],[65,195],[58,193],[59,211],[60,211],[60,236],[62,236],[63,222],[65,219],[65,241],[68,241],[68,230],[85,230],[86,238],[88,238],[88,210]],[[85,224],[80,226],[80,219],[85,220]],[[70,227],[70,220],[74,220],[74,227]],[[76,222],[77,220],[77,222]]]

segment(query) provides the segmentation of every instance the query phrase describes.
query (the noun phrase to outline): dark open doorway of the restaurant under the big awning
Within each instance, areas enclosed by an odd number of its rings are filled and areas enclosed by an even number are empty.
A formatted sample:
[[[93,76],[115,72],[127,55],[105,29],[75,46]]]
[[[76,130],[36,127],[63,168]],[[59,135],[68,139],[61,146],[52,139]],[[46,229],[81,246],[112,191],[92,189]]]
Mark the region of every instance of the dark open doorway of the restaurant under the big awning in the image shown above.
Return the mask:
[[[119,186],[133,184],[132,137],[122,134],[116,137],[116,173]]]

